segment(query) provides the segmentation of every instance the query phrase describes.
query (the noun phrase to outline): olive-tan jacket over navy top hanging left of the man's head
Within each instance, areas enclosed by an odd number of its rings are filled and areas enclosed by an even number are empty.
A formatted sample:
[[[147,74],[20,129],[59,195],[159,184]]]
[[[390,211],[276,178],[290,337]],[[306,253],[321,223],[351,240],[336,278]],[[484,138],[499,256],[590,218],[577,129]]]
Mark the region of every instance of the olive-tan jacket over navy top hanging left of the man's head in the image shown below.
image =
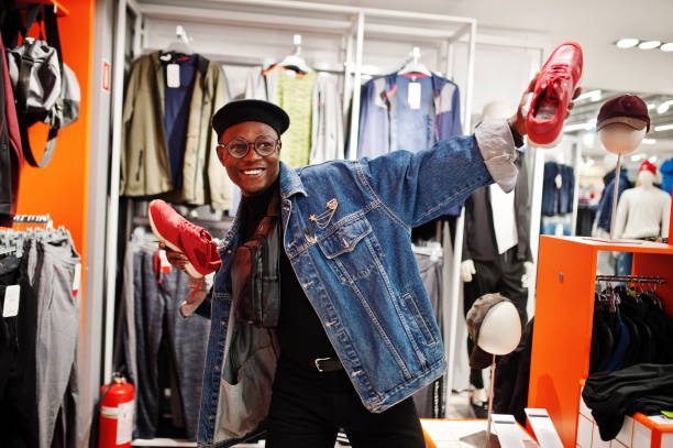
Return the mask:
[[[122,117],[120,194],[172,203],[232,205],[210,118],[229,100],[220,66],[154,52],[133,62]]]

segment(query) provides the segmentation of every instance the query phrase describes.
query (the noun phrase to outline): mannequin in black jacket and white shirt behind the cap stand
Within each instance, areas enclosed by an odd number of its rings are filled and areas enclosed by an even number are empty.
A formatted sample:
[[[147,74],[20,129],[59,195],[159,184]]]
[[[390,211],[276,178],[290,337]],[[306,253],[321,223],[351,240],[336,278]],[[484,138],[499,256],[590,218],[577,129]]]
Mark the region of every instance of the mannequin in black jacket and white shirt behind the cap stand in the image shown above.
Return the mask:
[[[483,119],[500,119],[510,110],[501,102],[484,107]],[[474,302],[488,293],[500,293],[516,305],[526,323],[527,281],[534,275],[530,252],[530,195],[523,154],[516,162],[519,176],[515,190],[505,194],[498,186],[479,188],[465,201],[465,237],[461,280],[464,283],[463,309],[466,314]],[[498,226],[494,226],[497,222]],[[467,352],[473,342],[467,339]],[[474,387],[472,408],[477,418],[487,413],[487,396],[482,371],[471,369]]]

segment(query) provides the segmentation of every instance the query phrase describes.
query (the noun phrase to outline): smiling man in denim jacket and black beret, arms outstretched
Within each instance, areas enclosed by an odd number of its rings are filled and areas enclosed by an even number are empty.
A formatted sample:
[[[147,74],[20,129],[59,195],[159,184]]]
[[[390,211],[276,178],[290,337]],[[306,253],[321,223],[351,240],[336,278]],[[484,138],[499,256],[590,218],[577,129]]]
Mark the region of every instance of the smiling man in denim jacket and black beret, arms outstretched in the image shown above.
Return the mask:
[[[197,310],[212,321],[199,446],[235,445],[266,428],[271,448],[331,448],[341,427],[354,447],[424,447],[410,396],[446,362],[410,231],[478,187],[514,188],[515,142],[522,145],[526,134],[521,106],[509,120],[416,154],[297,171],[278,160],[289,119],[277,106],[232,101],[212,125],[243,201]],[[231,270],[274,195],[282,305],[277,328],[268,329],[236,320]],[[169,259],[187,262],[173,251]]]

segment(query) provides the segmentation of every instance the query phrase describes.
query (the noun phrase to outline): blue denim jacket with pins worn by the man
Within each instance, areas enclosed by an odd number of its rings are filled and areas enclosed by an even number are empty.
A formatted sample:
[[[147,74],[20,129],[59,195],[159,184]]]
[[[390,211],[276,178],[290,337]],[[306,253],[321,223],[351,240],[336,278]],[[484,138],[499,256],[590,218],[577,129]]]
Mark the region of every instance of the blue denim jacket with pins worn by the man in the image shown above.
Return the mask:
[[[431,149],[294,171],[280,165],[284,248],[365,407],[379,413],[443,374],[444,345],[411,251],[411,228],[494,179],[516,183],[508,125]],[[328,207],[328,204],[335,208]],[[279,354],[274,330],[235,319],[231,263],[241,208],[219,247],[210,302],[198,444],[229,447],[262,431]],[[317,222],[309,218],[316,216]]]

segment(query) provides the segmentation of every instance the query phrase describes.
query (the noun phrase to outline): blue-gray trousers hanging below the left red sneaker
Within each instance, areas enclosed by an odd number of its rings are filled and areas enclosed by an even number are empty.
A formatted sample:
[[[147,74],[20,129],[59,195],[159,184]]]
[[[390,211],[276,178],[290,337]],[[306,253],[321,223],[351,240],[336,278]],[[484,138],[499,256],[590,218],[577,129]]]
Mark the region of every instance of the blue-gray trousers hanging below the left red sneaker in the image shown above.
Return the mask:
[[[185,319],[179,313],[187,296],[188,275],[173,270],[158,274],[155,252],[133,255],[133,296],[136,340],[136,437],[156,436],[159,419],[159,349],[163,338],[177,376],[187,437],[196,439],[201,383],[210,320],[201,316]]]

